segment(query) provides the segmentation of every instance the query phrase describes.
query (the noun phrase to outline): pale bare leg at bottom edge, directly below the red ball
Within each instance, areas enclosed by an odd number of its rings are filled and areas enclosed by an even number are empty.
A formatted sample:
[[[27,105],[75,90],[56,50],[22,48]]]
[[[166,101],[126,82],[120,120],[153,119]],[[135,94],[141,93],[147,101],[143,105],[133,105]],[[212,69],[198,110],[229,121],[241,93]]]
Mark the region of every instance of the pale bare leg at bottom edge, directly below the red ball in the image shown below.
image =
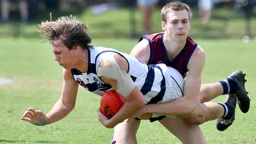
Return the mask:
[[[137,144],[136,133],[141,120],[131,120],[126,123],[126,120],[115,126],[115,138],[117,144]]]

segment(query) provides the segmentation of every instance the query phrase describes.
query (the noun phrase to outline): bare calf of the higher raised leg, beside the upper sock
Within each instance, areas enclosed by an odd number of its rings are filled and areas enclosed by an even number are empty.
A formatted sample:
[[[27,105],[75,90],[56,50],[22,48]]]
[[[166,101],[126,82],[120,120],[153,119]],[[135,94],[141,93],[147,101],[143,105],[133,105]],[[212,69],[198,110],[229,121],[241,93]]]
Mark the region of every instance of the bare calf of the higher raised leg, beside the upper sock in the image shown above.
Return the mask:
[[[199,92],[199,99],[201,103],[209,102],[223,94],[223,86],[221,83],[202,84]]]

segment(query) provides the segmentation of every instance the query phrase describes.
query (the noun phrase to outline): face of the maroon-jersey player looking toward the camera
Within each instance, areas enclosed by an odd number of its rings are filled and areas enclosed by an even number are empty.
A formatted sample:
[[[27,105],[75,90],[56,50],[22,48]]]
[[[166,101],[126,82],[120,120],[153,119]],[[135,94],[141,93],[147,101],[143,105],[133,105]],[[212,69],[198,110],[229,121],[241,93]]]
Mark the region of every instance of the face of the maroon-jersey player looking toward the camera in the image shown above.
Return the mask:
[[[162,28],[168,37],[174,41],[186,41],[190,29],[189,15],[186,10],[170,11],[167,14],[166,23],[162,22]]]

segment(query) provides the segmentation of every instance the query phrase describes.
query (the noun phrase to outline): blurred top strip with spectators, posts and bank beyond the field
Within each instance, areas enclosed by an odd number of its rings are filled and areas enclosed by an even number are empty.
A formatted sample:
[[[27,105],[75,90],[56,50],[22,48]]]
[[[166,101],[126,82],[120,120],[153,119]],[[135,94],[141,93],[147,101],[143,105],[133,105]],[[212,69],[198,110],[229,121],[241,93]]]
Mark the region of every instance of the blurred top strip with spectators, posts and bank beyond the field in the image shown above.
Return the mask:
[[[93,38],[135,38],[161,32],[161,7],[180,1],[191,7],[189,35],[209,39],[256,41],[256,0],[0,0],[0,37],[39,37],[37,24],[75,15]]]

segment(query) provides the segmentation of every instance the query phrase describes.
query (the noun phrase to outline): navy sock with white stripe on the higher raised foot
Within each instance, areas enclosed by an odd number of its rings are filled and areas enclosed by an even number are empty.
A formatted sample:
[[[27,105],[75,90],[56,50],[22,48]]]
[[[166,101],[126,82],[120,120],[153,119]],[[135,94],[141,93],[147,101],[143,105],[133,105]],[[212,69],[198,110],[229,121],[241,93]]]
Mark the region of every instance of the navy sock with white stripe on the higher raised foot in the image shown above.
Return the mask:
[[[223,87],[223,94],[235,94],[237,90],[237,85],[230,78],[224,79],[223,81],[219,81]]]

